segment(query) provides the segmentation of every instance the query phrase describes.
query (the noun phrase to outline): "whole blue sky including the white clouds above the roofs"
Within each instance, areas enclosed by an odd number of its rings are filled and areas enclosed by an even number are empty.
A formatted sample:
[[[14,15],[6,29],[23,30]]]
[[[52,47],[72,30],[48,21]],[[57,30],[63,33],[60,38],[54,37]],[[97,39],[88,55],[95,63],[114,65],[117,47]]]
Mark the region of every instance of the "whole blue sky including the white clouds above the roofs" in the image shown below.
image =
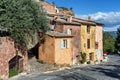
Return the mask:
[[[120,26],[120,0],[46,0],[57,7],[73,9],[75,16],[104,24],[104,31],[117,31]]]

